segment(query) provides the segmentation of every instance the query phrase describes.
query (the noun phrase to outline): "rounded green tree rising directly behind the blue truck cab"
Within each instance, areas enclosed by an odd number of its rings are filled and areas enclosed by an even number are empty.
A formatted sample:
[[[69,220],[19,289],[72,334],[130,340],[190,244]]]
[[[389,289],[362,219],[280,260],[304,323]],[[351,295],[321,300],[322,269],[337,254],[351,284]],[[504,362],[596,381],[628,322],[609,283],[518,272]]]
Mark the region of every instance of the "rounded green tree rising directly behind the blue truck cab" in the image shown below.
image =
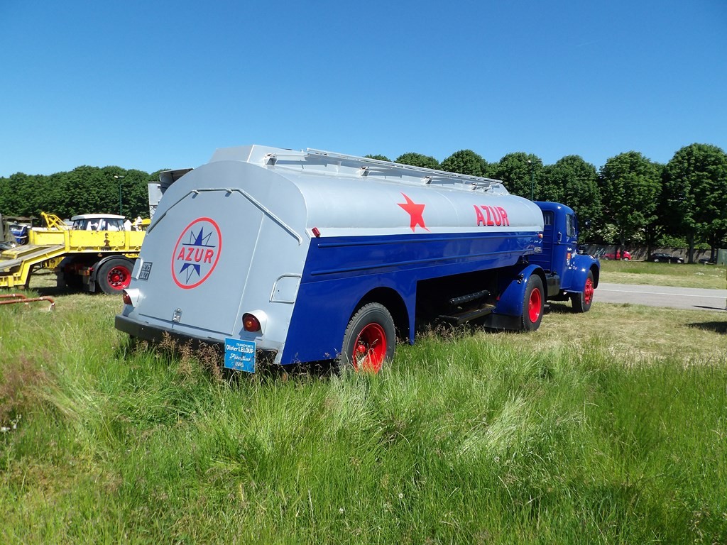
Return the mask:
[[[584,238],[593,236],[603,216],[598,171],[580,156],[566,156],[543,168],[542,198],[570,206],[582,222]],[[590,220],[590,227],[583,223]]]

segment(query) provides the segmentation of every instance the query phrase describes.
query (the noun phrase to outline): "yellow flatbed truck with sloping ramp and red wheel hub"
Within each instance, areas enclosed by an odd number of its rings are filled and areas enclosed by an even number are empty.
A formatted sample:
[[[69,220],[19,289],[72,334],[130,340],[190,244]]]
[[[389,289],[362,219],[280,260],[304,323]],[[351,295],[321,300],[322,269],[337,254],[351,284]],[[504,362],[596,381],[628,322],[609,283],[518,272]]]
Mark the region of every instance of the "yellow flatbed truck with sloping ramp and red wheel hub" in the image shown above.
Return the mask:
[[[15,239],[2,244],[0,288],[28,287],[39,268],[55,270],[59,286],[106,294],[129,286],[144,241],[142,225],[129,225],[115,214],[74,216],[72,225],[54,214],[42,216],[45,227],[24,226]]]

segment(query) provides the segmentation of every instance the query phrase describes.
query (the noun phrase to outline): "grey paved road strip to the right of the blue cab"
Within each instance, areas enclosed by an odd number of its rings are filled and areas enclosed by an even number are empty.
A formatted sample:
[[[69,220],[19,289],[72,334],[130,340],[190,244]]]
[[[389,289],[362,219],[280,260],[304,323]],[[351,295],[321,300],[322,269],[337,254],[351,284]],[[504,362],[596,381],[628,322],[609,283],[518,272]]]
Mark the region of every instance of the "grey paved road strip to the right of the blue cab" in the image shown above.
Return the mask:
[[[601,282],[595,290],[595,302],[599,301],[724,312],[727,289],[667,288]]]

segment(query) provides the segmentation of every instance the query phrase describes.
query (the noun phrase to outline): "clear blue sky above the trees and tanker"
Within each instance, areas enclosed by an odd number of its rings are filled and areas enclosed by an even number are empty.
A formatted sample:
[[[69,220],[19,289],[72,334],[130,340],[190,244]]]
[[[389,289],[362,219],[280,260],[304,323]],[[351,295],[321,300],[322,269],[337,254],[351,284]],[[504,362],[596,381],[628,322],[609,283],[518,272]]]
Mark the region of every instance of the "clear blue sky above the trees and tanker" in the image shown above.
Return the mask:
[[[0,176],[727,149],[727,1],[0,0]]]

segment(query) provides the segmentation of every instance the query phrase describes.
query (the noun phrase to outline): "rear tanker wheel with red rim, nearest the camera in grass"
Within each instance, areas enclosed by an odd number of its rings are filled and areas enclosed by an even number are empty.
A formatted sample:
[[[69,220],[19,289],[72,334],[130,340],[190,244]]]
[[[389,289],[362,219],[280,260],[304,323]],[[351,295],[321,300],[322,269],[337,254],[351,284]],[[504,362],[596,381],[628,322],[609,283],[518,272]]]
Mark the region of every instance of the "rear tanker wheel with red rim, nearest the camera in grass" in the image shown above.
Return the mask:
[[[395,346],[396,332],[390,312],[379,303],[365,304],[348,322],[337,368],[378,373],[394,357]]]

